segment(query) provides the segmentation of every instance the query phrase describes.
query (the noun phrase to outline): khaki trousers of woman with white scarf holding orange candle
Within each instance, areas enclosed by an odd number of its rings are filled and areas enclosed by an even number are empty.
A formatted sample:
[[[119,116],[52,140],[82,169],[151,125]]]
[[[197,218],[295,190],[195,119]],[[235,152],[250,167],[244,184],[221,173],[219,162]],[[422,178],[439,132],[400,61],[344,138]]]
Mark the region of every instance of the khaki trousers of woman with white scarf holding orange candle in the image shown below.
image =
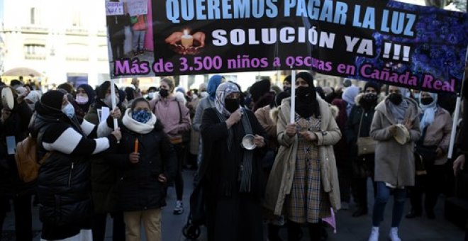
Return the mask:
[[[140,241],[140,223],[143,222],[146,240],[161,241],[161,208],[124,212],[127,241]]]

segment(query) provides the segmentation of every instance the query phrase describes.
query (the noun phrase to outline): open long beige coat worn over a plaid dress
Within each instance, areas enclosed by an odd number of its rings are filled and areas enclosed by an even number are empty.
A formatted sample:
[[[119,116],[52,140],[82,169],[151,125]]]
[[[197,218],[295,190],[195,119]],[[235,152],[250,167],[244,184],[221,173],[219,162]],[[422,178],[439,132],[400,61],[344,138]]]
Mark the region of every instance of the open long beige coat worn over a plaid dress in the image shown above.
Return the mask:
[[[321,160],[321,181],[323,189],[330,197],[330,204],[336,210],[340,209],[340,189],[338,186],[338,172],[335,163],[333,145],[341,138],[340,129],[330,111],[330,105],[322,99],[317,99],[322,116],[321,132],[314,145],[318,146],[318,158]],[[277,133],[281,145],[272,172],[269,175],[265,190],[265,208],[273,211],[274,215],[282,215],[284,200],[290,194],[296,169],[296,154],[298,138],[286,135],[286,125],[289,123],[291,112],[291,98],[284,99],[278,112]]]

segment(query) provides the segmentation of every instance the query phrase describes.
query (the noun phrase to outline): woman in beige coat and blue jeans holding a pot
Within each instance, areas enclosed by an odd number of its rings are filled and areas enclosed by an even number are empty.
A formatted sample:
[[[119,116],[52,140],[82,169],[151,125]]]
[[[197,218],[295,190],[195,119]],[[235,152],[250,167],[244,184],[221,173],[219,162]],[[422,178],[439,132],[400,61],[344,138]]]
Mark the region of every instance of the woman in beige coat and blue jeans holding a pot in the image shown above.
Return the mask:
[[[389,86],[389,96],[375,108],[370,135],[375,147],[377,196],[372,213],[369,241],[379,240],[379,226],[384,219],[390,193],[394,194],[389,238],[400,241],[398,228],[406,201],[406,187],[414,186],[414,142],[420,138],[418,103],[407,96],[408,89]],[[400,131],[402,130],[402,131]]]

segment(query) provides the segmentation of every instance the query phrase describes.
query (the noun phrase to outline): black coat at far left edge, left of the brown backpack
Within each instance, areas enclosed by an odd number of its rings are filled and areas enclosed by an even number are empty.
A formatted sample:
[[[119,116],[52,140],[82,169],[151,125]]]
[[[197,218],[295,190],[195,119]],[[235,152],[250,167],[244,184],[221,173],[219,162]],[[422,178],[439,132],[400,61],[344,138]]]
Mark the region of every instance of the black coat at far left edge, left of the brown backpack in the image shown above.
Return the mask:
[[[6,145],[8,136],[14,136],[16,143],[28,136],[28,124],[32,115],[33,112],[28,104],[23,101],[16,105],[5,123],[0,122],[0,196],[17,196],[34,192],[35,184],[25,184],[19,179],[15,155],[8,154]]]

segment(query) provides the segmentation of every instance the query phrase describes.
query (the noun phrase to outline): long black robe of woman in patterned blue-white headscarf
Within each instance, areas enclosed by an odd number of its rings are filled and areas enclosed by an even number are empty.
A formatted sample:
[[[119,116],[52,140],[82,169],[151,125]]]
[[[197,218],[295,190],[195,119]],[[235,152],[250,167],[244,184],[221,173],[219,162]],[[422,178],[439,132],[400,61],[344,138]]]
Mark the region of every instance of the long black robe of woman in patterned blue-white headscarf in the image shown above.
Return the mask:
[[[251,111],[245,111],[245,114],[250,120],[252,133],[265,138],[267,134],[255,115]],[[264,190],[261,160],[266,145],[254,151],[251,192],[240,194],[238,173],[244,155],[240,143],[245,131],[241,120],[231,128],[233,145],[228,150],[227,125],[219,120],[216,108],[204,111],[201,120],[204,159],[200,175],[207,208],[208,240],[261,240],[260,200]]]

